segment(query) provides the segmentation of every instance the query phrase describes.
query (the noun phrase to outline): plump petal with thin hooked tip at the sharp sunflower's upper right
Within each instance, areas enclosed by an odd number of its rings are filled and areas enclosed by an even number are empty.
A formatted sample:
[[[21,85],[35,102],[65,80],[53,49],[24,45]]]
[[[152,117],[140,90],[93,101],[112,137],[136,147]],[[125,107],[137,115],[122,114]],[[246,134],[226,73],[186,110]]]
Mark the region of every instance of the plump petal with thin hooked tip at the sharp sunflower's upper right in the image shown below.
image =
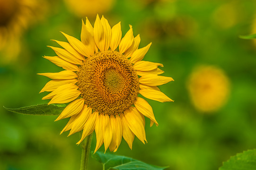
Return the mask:
[[[124,38],[122,38],[120,44],[119,44],[119,52],[122,54],[124,53],[131,45],[133,42],[133,31],[132,31],[132,26],[130,26],[130,30],[124,35]]]

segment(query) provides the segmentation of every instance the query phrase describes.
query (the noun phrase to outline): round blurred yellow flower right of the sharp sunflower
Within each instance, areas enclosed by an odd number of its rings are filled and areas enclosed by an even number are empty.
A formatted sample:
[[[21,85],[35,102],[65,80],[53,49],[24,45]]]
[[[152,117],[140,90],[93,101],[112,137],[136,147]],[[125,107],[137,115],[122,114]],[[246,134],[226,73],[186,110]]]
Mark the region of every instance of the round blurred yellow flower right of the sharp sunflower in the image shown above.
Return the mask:
[[[212,112],[226,103],[230,81],[220,68],[200,66],[189,76],[187,88],[196,109]]]

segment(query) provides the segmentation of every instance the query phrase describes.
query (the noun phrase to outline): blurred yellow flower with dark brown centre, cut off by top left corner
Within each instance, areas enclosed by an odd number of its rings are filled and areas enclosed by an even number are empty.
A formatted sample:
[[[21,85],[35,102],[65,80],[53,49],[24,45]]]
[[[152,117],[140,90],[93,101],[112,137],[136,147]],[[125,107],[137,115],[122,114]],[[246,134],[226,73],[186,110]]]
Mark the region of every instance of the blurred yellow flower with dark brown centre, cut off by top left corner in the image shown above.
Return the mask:
[[[41,0],[0,0],[0,57],[1,64],[17,58],[20,36],[38,19],[45,9]]]

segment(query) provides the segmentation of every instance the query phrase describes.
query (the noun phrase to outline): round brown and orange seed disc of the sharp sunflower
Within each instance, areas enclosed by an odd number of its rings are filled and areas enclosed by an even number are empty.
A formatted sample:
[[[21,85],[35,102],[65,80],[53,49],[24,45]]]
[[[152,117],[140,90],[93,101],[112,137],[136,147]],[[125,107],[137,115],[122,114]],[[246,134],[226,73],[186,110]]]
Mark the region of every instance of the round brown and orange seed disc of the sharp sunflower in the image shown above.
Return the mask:
[[[78,72],[85,103],[99,113],[116,115],[128,109],[139,92],[131,62],[117,51],[102,51],[86,59]]]

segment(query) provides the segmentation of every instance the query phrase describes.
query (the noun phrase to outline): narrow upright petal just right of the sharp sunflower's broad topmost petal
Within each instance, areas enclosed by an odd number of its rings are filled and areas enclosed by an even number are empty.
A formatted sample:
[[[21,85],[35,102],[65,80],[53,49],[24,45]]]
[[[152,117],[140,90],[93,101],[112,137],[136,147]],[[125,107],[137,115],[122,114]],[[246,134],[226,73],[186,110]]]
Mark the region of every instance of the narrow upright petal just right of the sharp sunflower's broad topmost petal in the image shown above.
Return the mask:
[[[103,26],[103,32],[104,32],[104,50],[108,50],[110,42],[111,42],[111,27],[108,24],[108,21],[104,16],[101,17],[101,24]]]

